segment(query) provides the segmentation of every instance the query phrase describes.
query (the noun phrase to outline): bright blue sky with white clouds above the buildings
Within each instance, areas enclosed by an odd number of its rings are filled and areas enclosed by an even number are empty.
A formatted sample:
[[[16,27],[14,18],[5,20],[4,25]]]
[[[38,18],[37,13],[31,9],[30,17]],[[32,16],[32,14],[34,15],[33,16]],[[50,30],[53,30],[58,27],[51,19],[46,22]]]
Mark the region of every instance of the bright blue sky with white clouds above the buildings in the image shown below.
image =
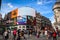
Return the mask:
[[[28,6],[34,8],[41,15],[49,18],[53,23],[55,20],[52,9],[55,2],[56,0],[2,0],[0,12],[2,17],[4,17],[5,14],[16,8]]]

